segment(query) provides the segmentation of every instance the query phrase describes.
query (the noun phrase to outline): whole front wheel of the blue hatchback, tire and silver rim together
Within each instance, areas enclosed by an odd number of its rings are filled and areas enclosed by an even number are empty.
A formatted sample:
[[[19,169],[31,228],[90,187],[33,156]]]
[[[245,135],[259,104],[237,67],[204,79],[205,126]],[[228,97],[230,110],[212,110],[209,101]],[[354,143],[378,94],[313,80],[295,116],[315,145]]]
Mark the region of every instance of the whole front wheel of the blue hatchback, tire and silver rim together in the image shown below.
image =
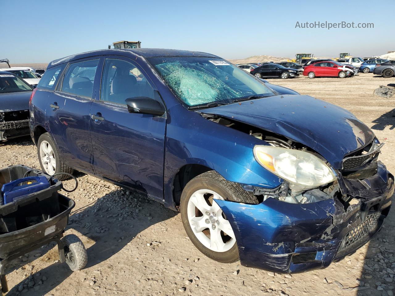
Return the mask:
[[[239,260],[235,235],[228,219],[213,200],[215,195],[215,198],[249,204],[258,204],[258,199],[241,185],[228,182],[213,170],[190,180],[182,191],[181,220],[191,242],[213,260],[235,262]],[[213,234],[216,236],[212,239]]]

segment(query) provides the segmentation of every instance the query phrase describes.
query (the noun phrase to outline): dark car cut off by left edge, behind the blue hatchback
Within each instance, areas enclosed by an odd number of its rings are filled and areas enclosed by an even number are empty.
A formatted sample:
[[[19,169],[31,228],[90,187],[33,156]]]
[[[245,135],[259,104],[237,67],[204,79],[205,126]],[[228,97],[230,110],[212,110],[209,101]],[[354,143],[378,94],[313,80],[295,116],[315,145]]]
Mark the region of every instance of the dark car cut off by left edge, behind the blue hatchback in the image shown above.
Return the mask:
[[[29,99],[32,90],[15,74],[0,71],[0,141],[30,135]]]

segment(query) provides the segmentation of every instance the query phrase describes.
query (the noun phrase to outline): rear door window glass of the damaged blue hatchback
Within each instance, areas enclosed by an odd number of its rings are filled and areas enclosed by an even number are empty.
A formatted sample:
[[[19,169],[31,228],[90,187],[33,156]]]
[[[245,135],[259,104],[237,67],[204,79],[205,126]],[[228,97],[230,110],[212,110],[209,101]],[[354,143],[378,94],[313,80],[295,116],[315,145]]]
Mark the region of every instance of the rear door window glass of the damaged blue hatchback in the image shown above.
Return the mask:
[[[99,60],[70,64],[64,74],[62,92],[92,98],[93,82]]]

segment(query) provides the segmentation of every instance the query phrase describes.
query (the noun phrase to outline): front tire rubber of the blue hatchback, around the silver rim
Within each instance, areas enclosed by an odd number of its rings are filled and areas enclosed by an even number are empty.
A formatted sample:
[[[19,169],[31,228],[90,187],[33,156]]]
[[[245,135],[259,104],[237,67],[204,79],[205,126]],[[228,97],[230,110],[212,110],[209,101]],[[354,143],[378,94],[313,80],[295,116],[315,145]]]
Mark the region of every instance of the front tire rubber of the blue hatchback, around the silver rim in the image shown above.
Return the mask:
[[[235,262],[239,259],[239,250],[237,247],[237,242],[231,247],[229,251],[226,252],[215,252],[210,250],[209,248],[205,247],[201,242],[199,242],[198,238],[196,238],[194,232],[191,229],[191,226],[188,221],[188,201],[192,195],[192,193],[198,191],[199,189],[210,189],[215,191],[220,196],[222,196],[226,200],[234,201],[234,198],[226,191],[226,189],[221,186],[215,180],[210,180],[209,178],[199,178],[199,179],[192,179],[186,186],[181,194],[181,203],[180,203],[180,213],[181,213],[181,220],[182,225],[188,234],[192,244],[198,248],[201,253],[206,255],[207,257],[222,262],[222,263],[230,263]]]

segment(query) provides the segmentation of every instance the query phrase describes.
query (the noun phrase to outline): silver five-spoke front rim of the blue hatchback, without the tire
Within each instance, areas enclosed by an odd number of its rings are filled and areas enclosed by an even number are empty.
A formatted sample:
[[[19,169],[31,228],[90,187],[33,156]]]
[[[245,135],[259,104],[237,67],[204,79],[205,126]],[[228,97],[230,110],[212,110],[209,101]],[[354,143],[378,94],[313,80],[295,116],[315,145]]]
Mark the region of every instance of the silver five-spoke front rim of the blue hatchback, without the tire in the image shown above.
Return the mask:
[[[201,244],[214,252],[226,252],[235,245],[235,234],[214,199],[223,200],[209,189],[194,192],[188,200],[188,222]]]

